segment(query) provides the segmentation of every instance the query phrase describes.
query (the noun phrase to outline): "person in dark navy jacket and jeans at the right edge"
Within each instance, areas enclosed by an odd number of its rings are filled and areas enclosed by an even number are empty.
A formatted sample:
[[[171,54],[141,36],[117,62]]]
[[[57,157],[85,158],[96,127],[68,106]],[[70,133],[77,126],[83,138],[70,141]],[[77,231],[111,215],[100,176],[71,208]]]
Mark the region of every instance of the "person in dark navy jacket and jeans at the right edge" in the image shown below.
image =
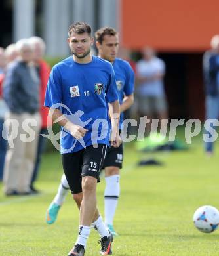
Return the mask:
[[[219,35],[210,41],[211,49],[203,55],[203,75],[205,83],[205,118],[219,117]],[[213,123],[210,124],[213,127]],[[213,142],[206,142],[205,152],[212,155]]]

